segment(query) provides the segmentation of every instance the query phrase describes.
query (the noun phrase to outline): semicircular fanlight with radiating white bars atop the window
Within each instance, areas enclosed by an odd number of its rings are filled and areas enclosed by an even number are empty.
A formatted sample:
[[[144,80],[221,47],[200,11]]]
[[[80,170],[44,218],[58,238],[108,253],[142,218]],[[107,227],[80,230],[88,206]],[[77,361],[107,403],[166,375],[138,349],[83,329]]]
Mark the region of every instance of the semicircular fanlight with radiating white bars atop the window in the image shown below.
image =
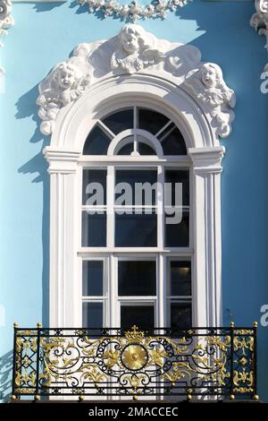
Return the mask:
[[[180,129],[168,116],[128,107],[98,120],[88,133],[83,155],[186,155]]]

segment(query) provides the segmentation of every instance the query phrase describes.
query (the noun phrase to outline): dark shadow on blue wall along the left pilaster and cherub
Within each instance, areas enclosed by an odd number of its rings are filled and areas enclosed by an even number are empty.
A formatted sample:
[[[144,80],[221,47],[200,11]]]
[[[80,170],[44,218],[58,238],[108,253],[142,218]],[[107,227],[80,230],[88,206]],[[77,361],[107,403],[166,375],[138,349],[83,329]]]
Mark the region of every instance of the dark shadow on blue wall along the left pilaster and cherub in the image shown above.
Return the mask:
[[[49,176],[46,171],[46,160],[43,156],[43,149],[49,143],[49,138],[45,138],[39,131],[40,119],[38,117],[38,107],[36,100],[38,98],[38,85],[22,95],[18,100],[16,118],[22,119],[31,117],[36,123],[36,130],[29,139],[31,143],[41,143],[38,155],[29,159],[23,164],[18,172],[21,174],[38,175],[32,183],[42,183],[43,185],[43,216],[42,216],[42,249],[43,249],[43,268],[42,268],[42,323],[49,325],[48,297],[49,297]]]

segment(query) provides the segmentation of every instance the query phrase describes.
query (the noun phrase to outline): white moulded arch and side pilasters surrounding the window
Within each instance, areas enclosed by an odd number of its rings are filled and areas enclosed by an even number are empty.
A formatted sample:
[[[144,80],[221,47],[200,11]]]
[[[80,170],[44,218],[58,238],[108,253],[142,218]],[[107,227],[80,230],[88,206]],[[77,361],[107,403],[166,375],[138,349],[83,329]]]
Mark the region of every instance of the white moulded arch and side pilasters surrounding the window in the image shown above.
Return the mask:
[[[222,323],[221,161],[224,148],[205,112],[188,93],[163,77],[138,73],[121,76],[121,83],[115,78],[104,79],[75,103],[63,108],[57,117],[51,144],[44,150],[50,174],[50,326],[80,325],[77,303],[81,286],[75,279],[79,279],[82,251],[78,253],[80,202],[75,198],[79,198],[83,144],[100,116],[128,107],[133,101],[139,107],[151,107],[171,116],[184,136],[193,174],[192,258],[197,268],[193,273],[194,320],[197,326],[219,326]],[[132,163],[132,157],[130,159]],[[113,160],[118,163],[121,157]],[[101,160],[96,159],[96,166],[100,163]],[[180,160],[174,164],[180,166]]]

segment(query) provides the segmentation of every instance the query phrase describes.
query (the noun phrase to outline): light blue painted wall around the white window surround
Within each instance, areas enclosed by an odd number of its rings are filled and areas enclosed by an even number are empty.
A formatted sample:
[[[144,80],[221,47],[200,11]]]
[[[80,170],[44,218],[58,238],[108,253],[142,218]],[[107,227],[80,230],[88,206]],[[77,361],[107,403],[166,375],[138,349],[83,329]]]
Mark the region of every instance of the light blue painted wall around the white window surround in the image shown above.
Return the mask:
[[[13,346],[13,322],[47,322],[48,176],[41,150],[48,142],[38,131],[38,82],[80,42],[107,39],[122,22],[88,14],[67,4],[14,4],[15,26],[1,48],[6,70],[1,94],[1,291],[4,327],[0,355]],[[236,120],[222,142],[227,153],[222,175],[223,311],[236,324],[260,319],[268,304],[267,95],[259,75],[268,61],[264,39],[249,27],[253,2],[193,4],[165,21],[140,21],[158,38],[191,43],[203,59],[222,66],[238,96]],[[268,401],[268,328],[259,328],[259,393]],[[5,385],[8,382],[4,383]],[[3,395],[6,394],[3,391]]]

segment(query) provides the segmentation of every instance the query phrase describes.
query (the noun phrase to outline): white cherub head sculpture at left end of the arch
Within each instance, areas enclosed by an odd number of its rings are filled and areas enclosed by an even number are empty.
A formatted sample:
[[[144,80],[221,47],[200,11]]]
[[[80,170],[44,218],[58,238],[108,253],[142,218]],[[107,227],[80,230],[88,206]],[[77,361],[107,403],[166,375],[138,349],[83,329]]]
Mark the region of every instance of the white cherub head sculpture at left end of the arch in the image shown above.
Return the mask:
[[[89,74],[81,74],[75,64],[63,62],[54,67],[39,87],[42,93],[37,102],[40,106],[38,115],[43,120],[42,133],[52,133],[60,108],[78,99],[89,82]]]

